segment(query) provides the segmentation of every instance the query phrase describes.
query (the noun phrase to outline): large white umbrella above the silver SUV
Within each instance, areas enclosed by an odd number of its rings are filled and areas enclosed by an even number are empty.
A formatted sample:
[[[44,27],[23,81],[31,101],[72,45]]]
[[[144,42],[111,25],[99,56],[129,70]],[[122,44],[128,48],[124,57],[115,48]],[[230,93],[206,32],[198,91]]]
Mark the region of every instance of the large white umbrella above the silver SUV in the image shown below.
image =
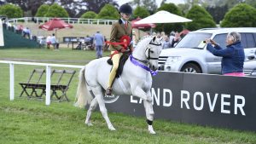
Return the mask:
[[[143,20],[138,20],[135,24],[148,24],[148,23],[178,23],[178,22],[190,22],[187,18],[169,13],[165,10],[161,10],[155,14],[149,15]]]

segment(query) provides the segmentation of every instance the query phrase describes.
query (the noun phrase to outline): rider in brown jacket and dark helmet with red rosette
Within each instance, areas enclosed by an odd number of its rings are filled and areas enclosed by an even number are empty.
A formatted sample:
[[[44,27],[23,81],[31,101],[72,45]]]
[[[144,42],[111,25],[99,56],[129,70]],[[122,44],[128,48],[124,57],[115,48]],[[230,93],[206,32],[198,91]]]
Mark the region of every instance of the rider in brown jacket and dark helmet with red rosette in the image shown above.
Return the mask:
[[[119,8],[119,15],[120,19],[113,23],[111,34],[110,34],[110,49],[111,49],[111,55],[113,60],[113,68],[109,74],[108,78],[108,89],[106,89],[106,95],[112,94],[112,84],[113,79],[115,78],[116,71],[119,67],[119,59],[121,55],[126,51],[127,47],[129,49],[132,49],[132,44],[128,43],[130,40],[126,40],[125,37],[131,37],[132,27],[131,22],[128,21],[130,19],[130,16],[132,14],[132,9],[129,4],[123,4]],[[127,42],[126,44],[111,44],[111,43],[122,43]]]

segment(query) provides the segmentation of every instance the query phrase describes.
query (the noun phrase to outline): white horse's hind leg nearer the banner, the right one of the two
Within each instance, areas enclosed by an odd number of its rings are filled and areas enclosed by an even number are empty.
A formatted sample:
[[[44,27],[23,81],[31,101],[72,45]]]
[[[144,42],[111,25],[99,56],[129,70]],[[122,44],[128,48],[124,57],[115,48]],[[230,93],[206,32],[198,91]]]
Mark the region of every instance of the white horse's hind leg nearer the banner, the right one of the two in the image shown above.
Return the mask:
[[[105,107],[105,102],[103,100],[103,92],[102,92],[102,87],[94,87],[92,89],[93,91],[93,94],[96,96],[96,101],[98,102],[99,104],[99,107],[100,107],[100,111],[102,112],[102,116],[103,118],[105,118],[107,124],[108,124],[108,129],[109,130],[115,130],[113,128],[113,125],[111,124],[109,118],[108,118],[108,111]]]

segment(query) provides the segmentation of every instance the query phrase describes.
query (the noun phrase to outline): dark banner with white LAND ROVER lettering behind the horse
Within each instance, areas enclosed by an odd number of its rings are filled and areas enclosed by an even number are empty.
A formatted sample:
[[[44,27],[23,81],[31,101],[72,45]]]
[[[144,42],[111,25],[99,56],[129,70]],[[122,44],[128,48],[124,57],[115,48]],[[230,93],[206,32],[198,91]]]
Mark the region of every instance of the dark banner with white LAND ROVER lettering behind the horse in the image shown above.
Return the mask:
[[[256,78],[159,72],[151,95],[154,118],[256,131]],[[106,105],[145,117],[143,101],[132,95],[113,95]]]

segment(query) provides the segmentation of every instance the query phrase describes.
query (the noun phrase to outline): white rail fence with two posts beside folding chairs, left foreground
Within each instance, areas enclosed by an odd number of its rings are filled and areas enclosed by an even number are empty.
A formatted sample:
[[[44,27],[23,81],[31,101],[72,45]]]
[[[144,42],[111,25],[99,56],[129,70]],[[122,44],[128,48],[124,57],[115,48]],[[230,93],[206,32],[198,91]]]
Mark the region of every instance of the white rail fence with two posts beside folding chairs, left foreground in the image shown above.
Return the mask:
[[[48,64],[38,62],[22,62],[22,61],[8,61],[0,60],[0,63],[9,64],[9,99],[10,101],[15,100],[15,65],[32,65],[32,66],[46,66],[46,98],[45,105],[50,104],[50,72],[51,67],[69,67],[69,68],[83,68],[84,66],[76,65],[59,65],[59,64]]]

